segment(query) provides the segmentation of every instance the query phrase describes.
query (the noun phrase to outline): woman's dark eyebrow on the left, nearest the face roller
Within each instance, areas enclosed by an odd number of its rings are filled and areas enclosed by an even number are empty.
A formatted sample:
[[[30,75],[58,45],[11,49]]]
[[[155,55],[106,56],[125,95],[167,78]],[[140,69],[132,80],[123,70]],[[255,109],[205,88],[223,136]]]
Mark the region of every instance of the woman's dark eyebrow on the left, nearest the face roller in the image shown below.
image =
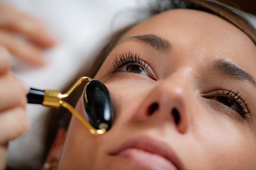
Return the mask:
[[[154,48],[156,48],[159,52],[166,52],[171,49],[171,43],[170,41],[168,41],[168,39],[161,38],[154,34],[131,36],[126,39],[140,39],[141,41],[144,41],[149,45],[153,46]]]

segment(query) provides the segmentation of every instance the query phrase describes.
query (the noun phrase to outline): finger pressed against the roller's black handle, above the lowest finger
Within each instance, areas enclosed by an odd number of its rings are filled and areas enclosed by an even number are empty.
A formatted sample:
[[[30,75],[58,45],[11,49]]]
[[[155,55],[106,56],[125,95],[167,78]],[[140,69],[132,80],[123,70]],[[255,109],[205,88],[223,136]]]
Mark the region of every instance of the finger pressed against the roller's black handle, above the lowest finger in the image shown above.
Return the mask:
[[[0,111],[15,106],[26,106],[26,92],[22,83],[12,74],[7,73],[0,78]]]

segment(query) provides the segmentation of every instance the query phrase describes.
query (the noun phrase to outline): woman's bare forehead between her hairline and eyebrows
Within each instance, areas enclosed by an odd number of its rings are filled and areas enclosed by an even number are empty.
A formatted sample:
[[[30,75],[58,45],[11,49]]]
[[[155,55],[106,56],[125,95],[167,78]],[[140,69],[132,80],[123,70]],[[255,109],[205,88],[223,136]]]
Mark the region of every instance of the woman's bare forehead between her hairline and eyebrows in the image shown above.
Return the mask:
[[[172,50],[196,56],[228,59],[255,77],[256,48],[253,41],[236,26],[222,18],[198,10],[164,11],[138,24],[122,39],[142,34],[156,34],[172,43]],[[121,39],[121,41],[122,41]]]

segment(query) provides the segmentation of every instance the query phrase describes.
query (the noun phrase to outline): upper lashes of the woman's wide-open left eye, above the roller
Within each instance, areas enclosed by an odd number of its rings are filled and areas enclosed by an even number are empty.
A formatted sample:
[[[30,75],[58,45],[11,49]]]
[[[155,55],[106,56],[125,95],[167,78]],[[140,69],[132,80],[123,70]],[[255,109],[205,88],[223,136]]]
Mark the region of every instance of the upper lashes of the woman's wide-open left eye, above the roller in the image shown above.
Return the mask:
[[[115,71],[120,69],[121,67],[127,65],[127,64],[140,64],[141,66],[145,67],[145,69],[148,69],[148,64],[143,58],[140,57],[137,53],[121,53],[119,55],[116,55],[115,60],[113,62],[113,67],[115,68]]]

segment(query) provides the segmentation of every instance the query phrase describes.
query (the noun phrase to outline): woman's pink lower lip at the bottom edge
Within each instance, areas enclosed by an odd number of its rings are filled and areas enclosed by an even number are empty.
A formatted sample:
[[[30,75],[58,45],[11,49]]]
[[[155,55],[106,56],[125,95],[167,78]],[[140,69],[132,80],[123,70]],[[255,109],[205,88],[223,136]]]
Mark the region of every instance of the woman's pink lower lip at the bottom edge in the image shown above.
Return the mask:
[[[152,170],[177,170],[177,167],[170,160],[138,148],[127,148],[118,153],[118,156],[129,160],[132,164]]]

